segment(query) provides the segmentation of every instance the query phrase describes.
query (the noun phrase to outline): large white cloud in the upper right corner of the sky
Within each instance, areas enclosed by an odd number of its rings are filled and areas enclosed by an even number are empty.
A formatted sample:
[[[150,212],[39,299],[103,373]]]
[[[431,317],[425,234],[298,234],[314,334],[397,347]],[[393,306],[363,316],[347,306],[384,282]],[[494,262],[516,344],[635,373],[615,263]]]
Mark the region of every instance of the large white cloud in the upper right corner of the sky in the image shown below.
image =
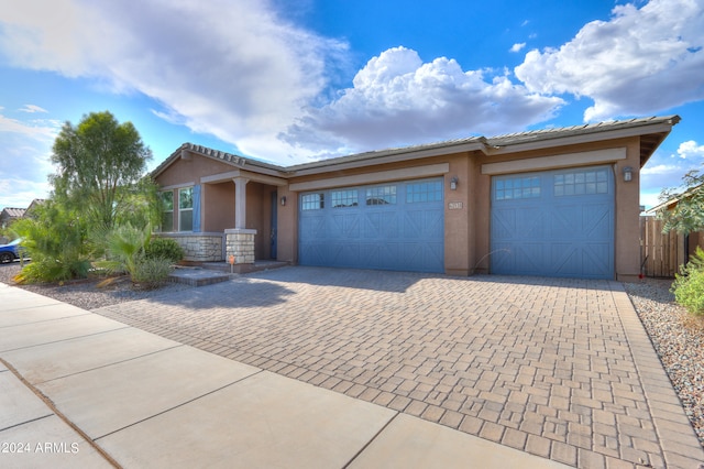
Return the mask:
[[[560,48],[528,52],[516,76],[535,92],[590,97],[586,121],[704,99],[703,11],[700,0],[617,6]]]

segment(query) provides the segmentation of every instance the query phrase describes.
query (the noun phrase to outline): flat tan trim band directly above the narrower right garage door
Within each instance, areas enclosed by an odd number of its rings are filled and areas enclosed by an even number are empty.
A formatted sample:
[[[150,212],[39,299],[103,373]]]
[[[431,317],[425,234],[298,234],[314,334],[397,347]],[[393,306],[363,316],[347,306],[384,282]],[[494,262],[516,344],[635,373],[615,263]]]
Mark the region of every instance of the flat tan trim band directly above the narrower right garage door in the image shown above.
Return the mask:
[[[498,175],[527,171],[559,170],[561,167],[613,163],[626,160],[626,148],[597,150],[593,152],[566,153],[526,160],[512,160],[482,165],[482,174]]]

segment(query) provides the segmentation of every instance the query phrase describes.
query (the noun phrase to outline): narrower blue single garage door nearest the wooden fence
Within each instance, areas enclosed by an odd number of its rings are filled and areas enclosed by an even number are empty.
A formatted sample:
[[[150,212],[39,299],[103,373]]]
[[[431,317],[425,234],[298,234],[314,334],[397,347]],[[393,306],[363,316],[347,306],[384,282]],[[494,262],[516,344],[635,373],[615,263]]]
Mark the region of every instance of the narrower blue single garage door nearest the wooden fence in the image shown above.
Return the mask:
[[[612,168],[494,176],[491,237],[492,273],[613,279]]]

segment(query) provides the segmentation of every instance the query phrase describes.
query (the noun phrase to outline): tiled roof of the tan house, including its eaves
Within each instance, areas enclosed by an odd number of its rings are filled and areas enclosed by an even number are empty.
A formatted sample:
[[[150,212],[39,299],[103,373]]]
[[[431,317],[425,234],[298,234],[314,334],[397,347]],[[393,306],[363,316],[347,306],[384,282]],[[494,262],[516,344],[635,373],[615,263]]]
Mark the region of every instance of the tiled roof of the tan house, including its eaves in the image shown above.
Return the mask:
[[[358,153],[286,167],[193,143],[184,143],[152,172],[152,177],[157,177],[178,159],[188,159],[191,153],[210,157],[238,168],[246,167],[252,172],[278,177],[292,177],[470,151],[481,151],[486,155],[498,155],[628,137],[640,137],[640,167],[642,167],[678,122],[680,122],[679,116],[650,117],[534,130],[492,138],[470,137],[444,142]]]

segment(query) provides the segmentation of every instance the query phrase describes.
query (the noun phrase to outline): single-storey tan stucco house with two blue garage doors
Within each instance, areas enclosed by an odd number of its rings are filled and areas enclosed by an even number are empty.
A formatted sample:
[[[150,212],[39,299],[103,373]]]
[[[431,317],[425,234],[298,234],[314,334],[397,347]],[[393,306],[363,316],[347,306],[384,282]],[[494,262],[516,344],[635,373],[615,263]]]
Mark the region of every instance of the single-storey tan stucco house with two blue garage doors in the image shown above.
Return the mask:
[[[153,177],[191,261],[635,279],[639,170],[678,116],[282,167],[186,143]]]

